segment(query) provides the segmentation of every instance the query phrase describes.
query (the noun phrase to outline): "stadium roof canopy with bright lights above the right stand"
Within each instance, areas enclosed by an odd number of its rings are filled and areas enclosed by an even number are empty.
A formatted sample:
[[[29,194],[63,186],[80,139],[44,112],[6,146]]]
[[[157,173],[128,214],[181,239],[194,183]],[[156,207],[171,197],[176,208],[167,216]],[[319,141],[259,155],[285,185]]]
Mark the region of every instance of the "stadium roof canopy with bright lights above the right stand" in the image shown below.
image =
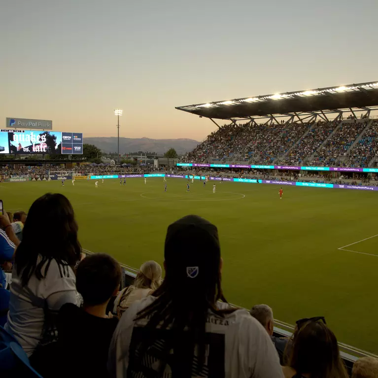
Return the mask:
[[[317,116],[328,120],[327,114],[336,113],[340,117],[344,112],[357,117],[355,111],[362,110],[370,115],[371,111],[378,110],[378,81],[177,106],[176,109],[211,120],[228,119],[233,122],[261,118],[276,121],[282,116],[289,116],[292,121],[294,118],[303,121]]]

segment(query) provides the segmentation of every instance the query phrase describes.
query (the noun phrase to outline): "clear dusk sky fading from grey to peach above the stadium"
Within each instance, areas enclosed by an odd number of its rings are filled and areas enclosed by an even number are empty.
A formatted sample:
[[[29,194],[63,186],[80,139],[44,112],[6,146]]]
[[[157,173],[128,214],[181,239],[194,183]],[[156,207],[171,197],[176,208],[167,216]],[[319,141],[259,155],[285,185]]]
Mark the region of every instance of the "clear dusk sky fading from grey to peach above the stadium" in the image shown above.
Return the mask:
[[[378,80],[377,0],[1,0],[0,122],[202,140],[175,106]],[[221,122],[221,121],[220,121]]]

